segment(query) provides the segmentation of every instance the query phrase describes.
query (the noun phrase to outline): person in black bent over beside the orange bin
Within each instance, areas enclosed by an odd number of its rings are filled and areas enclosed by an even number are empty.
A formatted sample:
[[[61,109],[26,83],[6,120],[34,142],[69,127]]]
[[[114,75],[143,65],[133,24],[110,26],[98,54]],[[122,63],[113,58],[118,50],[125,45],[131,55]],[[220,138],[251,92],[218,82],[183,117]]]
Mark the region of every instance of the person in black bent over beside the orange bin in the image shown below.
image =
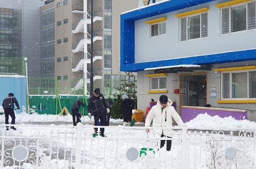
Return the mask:
[[[134,101],[129,99],[127,95],[124,95],[123,102],[121,104],[121,114],[123,114],[123,126],[130,126],[132,122],[132,114],[134,109]]]

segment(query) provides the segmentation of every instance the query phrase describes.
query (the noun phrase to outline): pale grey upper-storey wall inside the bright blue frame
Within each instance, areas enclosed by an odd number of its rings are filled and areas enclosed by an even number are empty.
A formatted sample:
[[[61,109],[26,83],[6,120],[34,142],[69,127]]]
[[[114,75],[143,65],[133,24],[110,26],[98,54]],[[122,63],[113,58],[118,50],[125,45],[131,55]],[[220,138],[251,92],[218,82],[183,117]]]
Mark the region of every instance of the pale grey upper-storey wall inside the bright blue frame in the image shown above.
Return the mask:
[[[214,1],[135,21],[135,63],[255,48],[255,29],[221,35],[221,11],[215,7],[221,2]],[[208,37],[180,42],[180,18],[174,15],[204,7],[210,8]],[[167,17],[166,34],[150,37],[150,24],[144,21],[160,17]]]

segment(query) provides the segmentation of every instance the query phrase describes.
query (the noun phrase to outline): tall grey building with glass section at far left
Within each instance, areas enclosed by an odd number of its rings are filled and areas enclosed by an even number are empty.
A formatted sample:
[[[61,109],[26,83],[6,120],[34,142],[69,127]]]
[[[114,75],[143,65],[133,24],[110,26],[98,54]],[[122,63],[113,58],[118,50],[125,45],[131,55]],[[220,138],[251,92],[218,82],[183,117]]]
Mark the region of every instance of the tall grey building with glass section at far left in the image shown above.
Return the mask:
[[[14,73],[18,74],[24,74],[22,68],[24,62],[23,58],[28,58],[28,75],[40,76],[40,7],[44,5],[44,1],[1,0],[0,4],[2,14],[1,21],[11,23],[8,24],[10,27],[6,27],[5,29],[3,29],[2,26],[6,24],[1,23],[2,31],[0,35],[2,38],[8,38],[7,41],[9,43],[5,45],[5,50],[1,50],[1,57],[3,57],[3,55],[9,58],[17,57],[20,64],[13,64],[17,66],[20,65],[20,72],[14,71]],[[7,29],[9,29],[9,31],[7,31]],[[10,45],[10,43],[12,45]],[[8,50],[6,50],[7,48]],[[8,63],[11,62],[8,61],[4,64],[8,65]],[[15,67],[15,65],[13,65],[13,67]]]

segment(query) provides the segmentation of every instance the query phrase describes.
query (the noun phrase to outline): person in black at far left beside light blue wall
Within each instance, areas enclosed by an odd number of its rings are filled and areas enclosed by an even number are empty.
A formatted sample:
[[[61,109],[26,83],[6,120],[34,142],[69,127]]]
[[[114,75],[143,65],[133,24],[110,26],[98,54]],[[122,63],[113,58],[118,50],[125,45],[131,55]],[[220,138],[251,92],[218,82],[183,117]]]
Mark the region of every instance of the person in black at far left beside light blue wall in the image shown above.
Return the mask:
[[[6,97],[4,99],[3,104],[2,104],[4,111],[5,111],[5,124],[9,124],[9,115],[12,118],[11,124],[15,124],[15,114],[13,111],[14,103],[15,103],[17,109],[19,109],[19,105],[18,105],[17,99],[13,96],[14,96],[13,93],[9,93],[8,97]],[[16,130],[16,128],[14,126],[11,126],[11,129]],[[6,130],[9,130],[9,126],[6,126]]]

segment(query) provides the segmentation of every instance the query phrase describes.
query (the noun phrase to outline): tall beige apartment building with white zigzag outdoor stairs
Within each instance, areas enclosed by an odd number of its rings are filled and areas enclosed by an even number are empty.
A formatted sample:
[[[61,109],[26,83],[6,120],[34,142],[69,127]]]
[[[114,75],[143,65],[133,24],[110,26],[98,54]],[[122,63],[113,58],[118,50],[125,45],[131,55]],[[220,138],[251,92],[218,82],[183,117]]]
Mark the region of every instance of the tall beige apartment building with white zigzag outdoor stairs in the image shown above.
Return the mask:
[[[118,70],[120,14],[136,8],[138,2],[93,1],[93,34],[90,3],[48,0],[41,7],[41,76],[57,77],[72,90],[82,90],[86,83],[84,90],[90,91],[91,38],[94,87],[114,88],[118,84],[112,81],[120,81],[120,74],[127,78]],[[77,80],[69,83],[69,78]]]

